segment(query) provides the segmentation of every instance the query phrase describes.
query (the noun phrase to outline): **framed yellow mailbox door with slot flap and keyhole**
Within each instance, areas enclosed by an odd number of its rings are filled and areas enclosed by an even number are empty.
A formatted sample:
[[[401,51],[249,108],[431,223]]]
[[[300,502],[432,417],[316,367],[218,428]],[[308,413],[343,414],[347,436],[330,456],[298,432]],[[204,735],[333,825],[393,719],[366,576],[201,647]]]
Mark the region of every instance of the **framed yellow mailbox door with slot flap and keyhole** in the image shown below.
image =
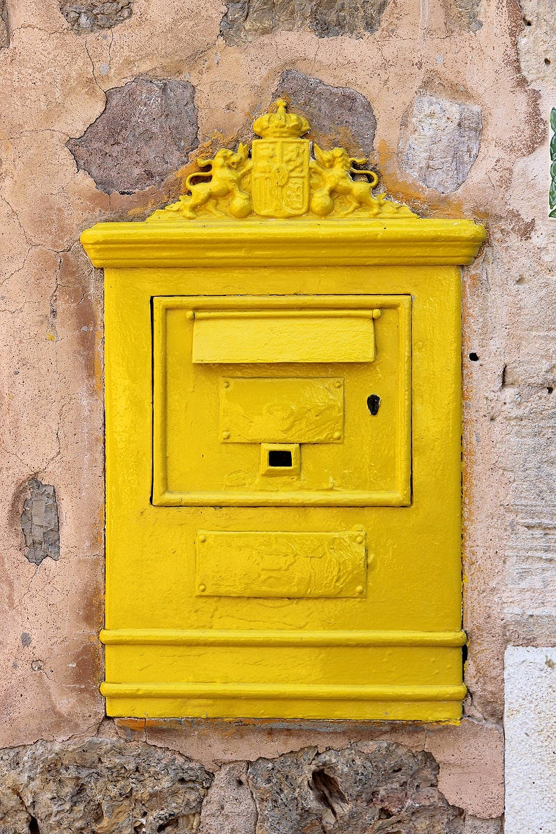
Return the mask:
[[[184,296],[153,308],[155,505],[408,505],[408,296]],[[307,321],[308,340],[286,329],[286,344],[250,341],[253,323]],[[263,443],[298,445],[299,465],[263,466]]]

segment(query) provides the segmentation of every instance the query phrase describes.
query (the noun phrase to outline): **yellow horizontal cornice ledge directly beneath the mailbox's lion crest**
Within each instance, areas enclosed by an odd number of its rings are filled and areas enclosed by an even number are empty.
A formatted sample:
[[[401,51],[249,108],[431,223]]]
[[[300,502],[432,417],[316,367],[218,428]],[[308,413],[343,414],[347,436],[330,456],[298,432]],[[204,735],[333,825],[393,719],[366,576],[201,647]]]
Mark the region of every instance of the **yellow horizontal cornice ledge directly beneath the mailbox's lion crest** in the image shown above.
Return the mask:
[[[486,239],[464,219],[244,219],[99,223],[81,235],[96,267],[470,264]]]

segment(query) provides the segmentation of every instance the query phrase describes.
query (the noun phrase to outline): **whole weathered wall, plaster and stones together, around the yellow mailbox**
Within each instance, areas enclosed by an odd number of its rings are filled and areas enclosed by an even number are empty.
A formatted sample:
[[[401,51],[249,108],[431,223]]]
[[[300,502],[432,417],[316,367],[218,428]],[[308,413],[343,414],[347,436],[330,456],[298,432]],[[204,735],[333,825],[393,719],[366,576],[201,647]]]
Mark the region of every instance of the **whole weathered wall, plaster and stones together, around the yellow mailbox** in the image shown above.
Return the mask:
[[[0,9],[0,766],[10,774],[0,831],[498,834],[503,651],[556,645],[552,3]],[[393,198],[488,227],[463,275],[470,646],[458,727],[103,716],[102,278],[78,236],[175,198],[194,148],[248,136],[278,91],[307,113],[319,143],[370,153]],[[140,779],[128,773],[133,756]],[[161,761],[169,781],[158,785]],[[78,791],[91,772],[109,796],[60,792],[63,779]],[[374,786],[372,818],[358,773]]]

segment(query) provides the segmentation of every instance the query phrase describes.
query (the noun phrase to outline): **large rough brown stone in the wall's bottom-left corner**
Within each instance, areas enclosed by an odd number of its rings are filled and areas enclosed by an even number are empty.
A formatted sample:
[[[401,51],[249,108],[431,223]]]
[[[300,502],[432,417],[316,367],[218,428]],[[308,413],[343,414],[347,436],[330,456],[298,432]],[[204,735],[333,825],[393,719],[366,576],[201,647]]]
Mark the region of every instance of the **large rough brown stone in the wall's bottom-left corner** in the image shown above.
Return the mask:
[[[147,744],[38,741],[0,752],[0,834],[193,834],[211,781]]]

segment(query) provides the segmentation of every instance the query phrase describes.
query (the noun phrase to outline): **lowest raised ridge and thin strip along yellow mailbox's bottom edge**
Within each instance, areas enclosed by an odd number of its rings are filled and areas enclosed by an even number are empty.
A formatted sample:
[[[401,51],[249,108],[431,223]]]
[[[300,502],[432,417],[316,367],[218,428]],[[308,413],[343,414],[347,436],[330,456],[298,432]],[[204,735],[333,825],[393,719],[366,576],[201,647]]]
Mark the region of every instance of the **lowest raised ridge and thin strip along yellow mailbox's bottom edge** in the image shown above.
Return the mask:
[[[101,686],[107,714],[136,718],[458,721],[463,685],[133,684]]]

